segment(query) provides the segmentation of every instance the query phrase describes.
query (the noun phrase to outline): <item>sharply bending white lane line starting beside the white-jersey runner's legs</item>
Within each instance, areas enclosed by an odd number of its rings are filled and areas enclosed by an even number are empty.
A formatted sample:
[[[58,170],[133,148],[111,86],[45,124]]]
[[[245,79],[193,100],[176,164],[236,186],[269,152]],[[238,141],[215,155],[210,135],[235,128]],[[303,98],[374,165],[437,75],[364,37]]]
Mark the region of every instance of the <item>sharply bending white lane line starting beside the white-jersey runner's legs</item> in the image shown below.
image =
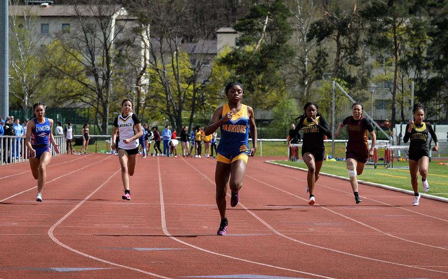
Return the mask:
[[[122,264],[114,263],[114,262],[111,262],[111,261],[108,261],[108,260],[104,260],[104,259],[101,259],[101,258],[97,258],[97,257],[95,257],[95,256],[92,256],[92,255],[83,253],[83,252],[81,252],[81,251],[78,251],[78,250],[76,250],[76,249],[73,249],[73,248],[71,248],[71,247],[65,245],[64,243],[62,243],[61,241],[59,241],[59,240],[55,237],[55,235],[53,234],[53,231],[55,230],[55,228],[56,228],[58,225],[60,225],[62,222],[64,222],[64,220],[67,219],[68,216],[70,216],[73,212],[75,212],[76,209],[78,209],[78,208],[79,208],[84,202],[86,202],[92,195],[94,195],[99,189],[101,189],[104,185],[106,185],[106,183],[109,182],[109,180],[111,180],[112,177],[114,177],[114,176],[115,176],[117,173],[119,173],[120,171],[121,171],[121,169],[117,170],[117,171],[116,171],[114,174],[112,174],[106,181],[104,181],[103,184],[99,185],[99,187],[96,188],[90,195],[86,196],[86,197],[85,197],[82,201],[80,201],[80,202],[79,202],[79,203],[78,203],[72,210],[70,210],[67,214],[65,214],[65,216],[64,216],[63,218],[61,218],[58,222],[56,222],[56,223],[55,223],[55,224],[48,230],[48,236],[49,236],[49,237],[51,238],[51,240],[53,240],[56,244],[58,244],[58,245],[64,247],[65,249],[67,249],[67,250],[69,250],[69,251],[72,251],[72,252],[74,252],[74,253],[77,253],[77,254],[79,254],[79,255],[88,257],[88,258],[90,258],[90,259],[93,259],[93,260],[96,260],[96,261],[99,261],[99,262],[103,262],[103,263],[106,263],[106,264],[110,264],[110,265],[113,265],[113,266],[118,266],[118,267],[122,267],[122,268],[130,269],[130,270],[137,271],[137,272],[140,272],[140,273],[143,273],[143,274],[146,274],[146,275],[152,275],[152,276],[154,276],[154,277],[158,277],[158,278],[171,279],[171,278],[169,278],[169,277],[164,277],[164,276],[161,276],[161,275],[158,275],[158,274],[155,274],[155,273],[151,273],[151,272],[148,272],[148,271],[145,271],[145,270],[141,270],[141,269],[138,269],[138,268],[134,268],[134,267],[130,267],[130,266],[126,266],[126,265],[122,265]]]

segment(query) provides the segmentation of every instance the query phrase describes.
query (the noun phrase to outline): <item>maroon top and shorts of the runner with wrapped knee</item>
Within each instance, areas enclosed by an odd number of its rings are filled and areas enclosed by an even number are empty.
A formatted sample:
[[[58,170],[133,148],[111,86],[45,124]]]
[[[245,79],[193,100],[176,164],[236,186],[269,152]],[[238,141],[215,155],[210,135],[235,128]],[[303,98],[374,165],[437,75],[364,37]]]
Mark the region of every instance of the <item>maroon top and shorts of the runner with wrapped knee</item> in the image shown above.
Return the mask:
[[[355,120],[353,116],[349,116],[342,124],[347,125],[347,131],[349,133],[349,142],[347,143],[347,158],[360,159],[357,161],[367,161],[369,155],[369,144],[367,143],[367,133],[373,131],[372,123],[365,117],[361,117],[359,120]]]

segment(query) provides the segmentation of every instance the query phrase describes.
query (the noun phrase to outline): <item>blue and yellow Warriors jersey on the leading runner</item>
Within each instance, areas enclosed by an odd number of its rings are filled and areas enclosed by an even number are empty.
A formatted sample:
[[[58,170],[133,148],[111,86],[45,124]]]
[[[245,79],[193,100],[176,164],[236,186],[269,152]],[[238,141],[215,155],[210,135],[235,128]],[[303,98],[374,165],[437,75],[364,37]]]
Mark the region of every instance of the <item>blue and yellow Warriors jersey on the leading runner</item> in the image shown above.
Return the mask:
[[[224,117],[230,111],[228,104],[223,106]],[[220,127],[221,140],[217,151],[222,155],[249,154],[249,114],[247,106],[241,104],[239,112],[233,114],[232,119],[224,122]]]

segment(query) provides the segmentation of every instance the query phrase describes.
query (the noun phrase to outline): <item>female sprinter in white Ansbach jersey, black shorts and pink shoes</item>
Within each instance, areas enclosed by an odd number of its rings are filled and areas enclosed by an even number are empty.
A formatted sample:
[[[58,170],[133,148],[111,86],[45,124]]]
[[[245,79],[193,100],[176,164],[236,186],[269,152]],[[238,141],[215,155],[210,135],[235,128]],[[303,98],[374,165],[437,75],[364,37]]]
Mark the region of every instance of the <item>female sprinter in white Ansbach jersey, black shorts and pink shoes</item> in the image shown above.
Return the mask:
[[[122,198],[130,200],[129,176],[134,174],[135,165],[137,164],[138,139],[143,136],[142,125],[137,115],[132,113],[132,101],[125,99],[122,102],[122,113],[115,117],[114,130],[112,132],[112,149],[115,149],[115,140],[117,132],[120,133],[120,141],[118,142],[118,159],[121,165],[121,179],[125,194]]]

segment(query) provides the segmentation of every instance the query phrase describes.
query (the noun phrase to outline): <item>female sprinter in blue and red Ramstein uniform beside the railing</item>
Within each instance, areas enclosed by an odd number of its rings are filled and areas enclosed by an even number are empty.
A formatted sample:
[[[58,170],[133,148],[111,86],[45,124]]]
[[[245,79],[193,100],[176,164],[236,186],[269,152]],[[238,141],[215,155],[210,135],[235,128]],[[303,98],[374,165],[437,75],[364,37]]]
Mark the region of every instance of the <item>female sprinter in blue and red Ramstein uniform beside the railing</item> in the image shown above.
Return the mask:
[[[59,154],[58,144],[51,132],[53,129],[53,119],[47,118],[45,105],[35,103],[32,105],[34,118],[28,121],[26,142],[30,151],[30,167],[32,176],[37,179],[36,201],[42,201],[42,189],[47,182],[47,166],[51,161],[50,142],[53,143],[55,151]]]

